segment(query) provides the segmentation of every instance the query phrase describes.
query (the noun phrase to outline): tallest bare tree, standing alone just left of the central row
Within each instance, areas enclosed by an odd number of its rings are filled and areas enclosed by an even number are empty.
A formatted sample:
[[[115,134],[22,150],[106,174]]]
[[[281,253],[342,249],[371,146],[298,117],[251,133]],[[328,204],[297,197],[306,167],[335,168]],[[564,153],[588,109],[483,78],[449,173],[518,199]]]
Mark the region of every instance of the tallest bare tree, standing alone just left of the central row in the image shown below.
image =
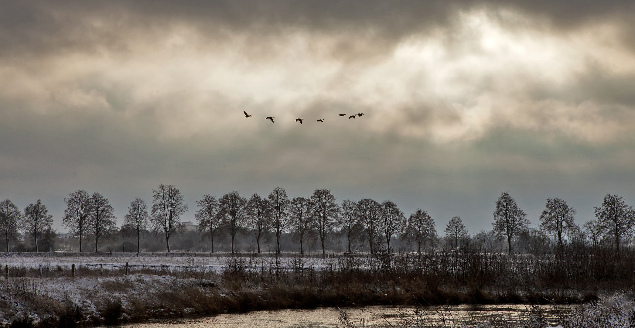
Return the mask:
[[[181,215],[187,211],[181,191],[170,184],[159,184],[152,190],[152,215],[150,222],[156,231],[165,236],[166,249],[170,252],[170,236],[182,229]]]

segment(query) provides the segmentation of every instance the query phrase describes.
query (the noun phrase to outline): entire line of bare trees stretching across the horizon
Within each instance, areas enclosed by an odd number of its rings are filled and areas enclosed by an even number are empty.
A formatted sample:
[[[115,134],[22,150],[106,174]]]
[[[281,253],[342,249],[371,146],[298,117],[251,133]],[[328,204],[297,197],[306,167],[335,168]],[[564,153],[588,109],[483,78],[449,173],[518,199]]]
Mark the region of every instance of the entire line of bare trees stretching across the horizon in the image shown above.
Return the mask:
[[[161,184],[152,191],[152,206],[141,198],[130,203],[123,226],[117,226],[114,208],[100,193],[90,195],[86,191],[73,191],[64,199],[66,208],[62,224],[79,239],[79,251],[83,251],[86,239],[100,250],[100,241],[111,244],[114,238],[135,238],[137,252],[141,251],[142,236],[152,233],[165,242],[170,252],[170,238],[180,238],[185,232],[181,221],[188,210],[180,190]],[[236,251],[236,241],[251,235],[255,250],[262,250],[262,243],[272,242],[274,251],[281,252],[281,240],[293,238],[298,250],[304,254],[307,243],[318,242],[322,254],[326,254],[329,242],[343,242],[347,252],[370,251],[371,254],[394,252],[395,243],[410,245],[419,254],[439,247],[460,250],[464,242],[478,241],[488,245],[488,252],[537,252],[550,249],[562,251],[565,243],[620,247],[630,243],[635,228],[635,210],[625,204],[618,195],[606,195],[595,208],[596,219],[582,227],[574,223],[575,209],[561,198],[548,198],[540,215],[540,229],[528,228],[527,214],[519,208],[509,193],[502,192],[493,213],[493,229],[481,231],[469,237],[458,215],[450,219],[440,238],[431,215],[421,209],[406,215],[390,200],[379,203],[370,198],[344,200],[337,203],[328,189],[316,189],[311,196],[290,197],[283,188],[276,187],[267,196],[253,194],[245,198],[237,191],[220,197],[204,195],[196,202],[198,238],[205,238],[209,250],[214,252],[215,242],[229,240],[227,247]],[[53,215],[40,201],[20,210],[10,200],[0,202],[0,233],[10,252],[12,242],[24,237],[32,243],[30,250],[50,251],[55,248],[55,230],[51,229]],[[194,237],[194,236],[193,236]],[[196,237],[194,237],[196,238]],[[200,240],[199,240],[200,242]],[[283,242],[284,243],[284,242]],[[539,246],[542,245],[542,246]],[[548,247],[547,247],[548,246]],[[126,250],[125,245],[123,246]],[[22,249],[27,249],[22,245]],[[130,247],[128,248],[130,250]],[[403,247],[401,247],[403,250]]]

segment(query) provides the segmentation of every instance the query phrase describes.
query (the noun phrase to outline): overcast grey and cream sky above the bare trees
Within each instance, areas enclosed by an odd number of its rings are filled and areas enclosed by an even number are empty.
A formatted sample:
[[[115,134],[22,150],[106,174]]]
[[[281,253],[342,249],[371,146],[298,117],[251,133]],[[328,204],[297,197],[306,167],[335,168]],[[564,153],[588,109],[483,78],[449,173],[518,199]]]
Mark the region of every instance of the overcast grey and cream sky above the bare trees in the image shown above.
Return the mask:
[[[634,21],[618,0],[3,1],[0,198],[60,228],[76,189],[121,222],[161,183],[184,221],[205,193],[328,188],[477,233],[505,190],[533,226],[550,197],[581,224],[606,193],[635,205]]]

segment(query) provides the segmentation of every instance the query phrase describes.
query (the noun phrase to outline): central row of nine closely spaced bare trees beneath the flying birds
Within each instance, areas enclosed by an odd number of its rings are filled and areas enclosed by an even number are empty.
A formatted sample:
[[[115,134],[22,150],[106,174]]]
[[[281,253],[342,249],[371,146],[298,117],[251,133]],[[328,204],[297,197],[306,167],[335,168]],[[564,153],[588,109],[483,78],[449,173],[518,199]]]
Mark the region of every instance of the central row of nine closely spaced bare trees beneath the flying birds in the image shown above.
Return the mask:
[[[372,253],[375,238],[385,238],[387,249],[390,250],[391,238],[406,229],[406,217],[391,201],[377,203],[368,198],[359,202],[345,200],[340,207],[328,189],[316,189],[309,197],[293,198],[280,187],[274,188],[267,198],[258,194],[244,198],[237,191],[232,191],[218,199],[204,195],[197,206],[199,210],[195,217],[199,231],[210,236],[212,249],[214,237],[222,231],[222,227],[228,227],[226,230],[231,236],[232,252],[234,238],[241,228],[253,231],[258,252],[260,238],[265,231],[271,231],[276,237],[278,253],[281,235],[285,232],[295,233],[302,254],[305,236],[310,232],[318,236],[323,254],[326,252],[324,242],[327,236],[336,229],[347,236],[349,252],[352,252],[353,235],[363,233]],[[432,226],[434,229],[434,222]]]

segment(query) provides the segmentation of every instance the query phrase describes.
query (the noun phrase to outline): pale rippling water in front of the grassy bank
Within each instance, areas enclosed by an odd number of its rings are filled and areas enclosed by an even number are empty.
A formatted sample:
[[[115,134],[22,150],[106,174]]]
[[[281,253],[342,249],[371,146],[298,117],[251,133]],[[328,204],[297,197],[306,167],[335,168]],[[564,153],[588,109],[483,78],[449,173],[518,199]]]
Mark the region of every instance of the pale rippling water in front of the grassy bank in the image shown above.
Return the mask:
[[[542,313],[549,324],[557,324],[558,317],[569,313],[568,306],[538,306],[531,309],[525,305],[460,305],[452,306],[449,311],[443,306],[428,306],[420,311],[419,316],[425,320],[425,325],[443,324],[444,320],[449,327],[456,322],[478,324],[490,322],[491,324],[519,324],[530,320],[530,315],[537,310]],[[415,318],[413,307],[386,307],[367,306],[360,308],[344,308],[349,318],[358,325],[364,320],[366,327],[391,327],[399,325],[399,315],[403,313]],[[338,317],[337,308],[315,308],[310,310],[269,310],[252,311],[248,313],[229,313],[213,317],[184,318],[178,320],[150,320],[141,324],[128,324],[127,328],[332,328],[342,327]],[[179,327],[180,326],[180,327]]]

